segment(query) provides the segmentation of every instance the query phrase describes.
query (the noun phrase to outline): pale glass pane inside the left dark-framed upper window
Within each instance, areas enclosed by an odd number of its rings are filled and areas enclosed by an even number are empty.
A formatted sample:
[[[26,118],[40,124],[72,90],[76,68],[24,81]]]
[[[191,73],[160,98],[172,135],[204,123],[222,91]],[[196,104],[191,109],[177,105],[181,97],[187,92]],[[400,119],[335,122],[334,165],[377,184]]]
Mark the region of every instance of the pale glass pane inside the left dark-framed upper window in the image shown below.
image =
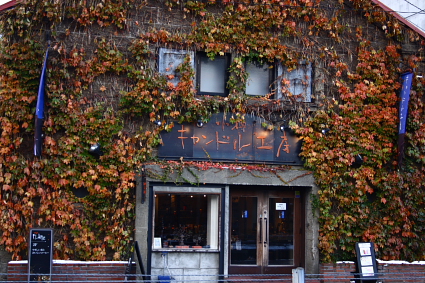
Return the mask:
[[[200,92],[224,94],[226,85],[226,58],[214,60],[202,56],[200,60]]]

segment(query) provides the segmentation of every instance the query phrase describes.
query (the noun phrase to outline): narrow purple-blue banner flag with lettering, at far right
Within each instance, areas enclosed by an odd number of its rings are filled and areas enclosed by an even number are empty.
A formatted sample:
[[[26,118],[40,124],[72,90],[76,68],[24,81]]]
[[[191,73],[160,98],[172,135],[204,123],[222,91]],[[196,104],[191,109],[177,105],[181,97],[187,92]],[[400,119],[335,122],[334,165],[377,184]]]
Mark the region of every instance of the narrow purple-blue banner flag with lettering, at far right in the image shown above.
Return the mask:
[[[401,75],[403,85],[400,93],[399,127],[398,127],[398,165],[401,166],[404,152],[404,135],[406,133],[407,110],[409,109],[410,89],[412,87],[413,73]]]

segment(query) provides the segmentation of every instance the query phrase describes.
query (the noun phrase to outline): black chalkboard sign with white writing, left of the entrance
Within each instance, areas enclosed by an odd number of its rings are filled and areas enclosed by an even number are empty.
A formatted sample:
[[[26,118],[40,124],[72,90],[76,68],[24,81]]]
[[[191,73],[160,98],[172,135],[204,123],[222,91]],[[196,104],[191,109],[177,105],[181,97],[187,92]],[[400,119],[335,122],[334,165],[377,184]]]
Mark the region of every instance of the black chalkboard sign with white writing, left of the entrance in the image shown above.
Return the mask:
[[[50,282],[53,229],[31,229],[28,247],[28,281]]]

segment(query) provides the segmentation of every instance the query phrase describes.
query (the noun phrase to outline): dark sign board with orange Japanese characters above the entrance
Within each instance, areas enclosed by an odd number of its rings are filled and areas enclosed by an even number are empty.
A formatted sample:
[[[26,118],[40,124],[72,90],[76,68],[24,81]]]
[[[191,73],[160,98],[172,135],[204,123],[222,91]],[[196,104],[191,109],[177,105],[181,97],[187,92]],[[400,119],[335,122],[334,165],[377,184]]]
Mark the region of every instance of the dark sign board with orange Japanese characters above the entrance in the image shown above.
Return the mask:
[[[280,125],[266,129],[262,119],[246,116],[243,123],[230,123],[230,114],[215,114],[202,127],[178,124],[162,132],[158,157],[166,159],[257,162],[301,165],[300,139]]]

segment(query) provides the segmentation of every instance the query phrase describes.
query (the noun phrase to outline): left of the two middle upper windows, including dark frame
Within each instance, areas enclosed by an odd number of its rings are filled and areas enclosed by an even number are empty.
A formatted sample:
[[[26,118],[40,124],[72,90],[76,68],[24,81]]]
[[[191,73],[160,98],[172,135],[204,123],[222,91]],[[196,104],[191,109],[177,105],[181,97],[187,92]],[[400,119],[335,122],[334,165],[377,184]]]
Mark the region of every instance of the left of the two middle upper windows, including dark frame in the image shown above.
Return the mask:
[[[196,72],[198,94],[227,95],[228,69],[229,55],[215,56],[211,59],[206,53],[199,53]]]

